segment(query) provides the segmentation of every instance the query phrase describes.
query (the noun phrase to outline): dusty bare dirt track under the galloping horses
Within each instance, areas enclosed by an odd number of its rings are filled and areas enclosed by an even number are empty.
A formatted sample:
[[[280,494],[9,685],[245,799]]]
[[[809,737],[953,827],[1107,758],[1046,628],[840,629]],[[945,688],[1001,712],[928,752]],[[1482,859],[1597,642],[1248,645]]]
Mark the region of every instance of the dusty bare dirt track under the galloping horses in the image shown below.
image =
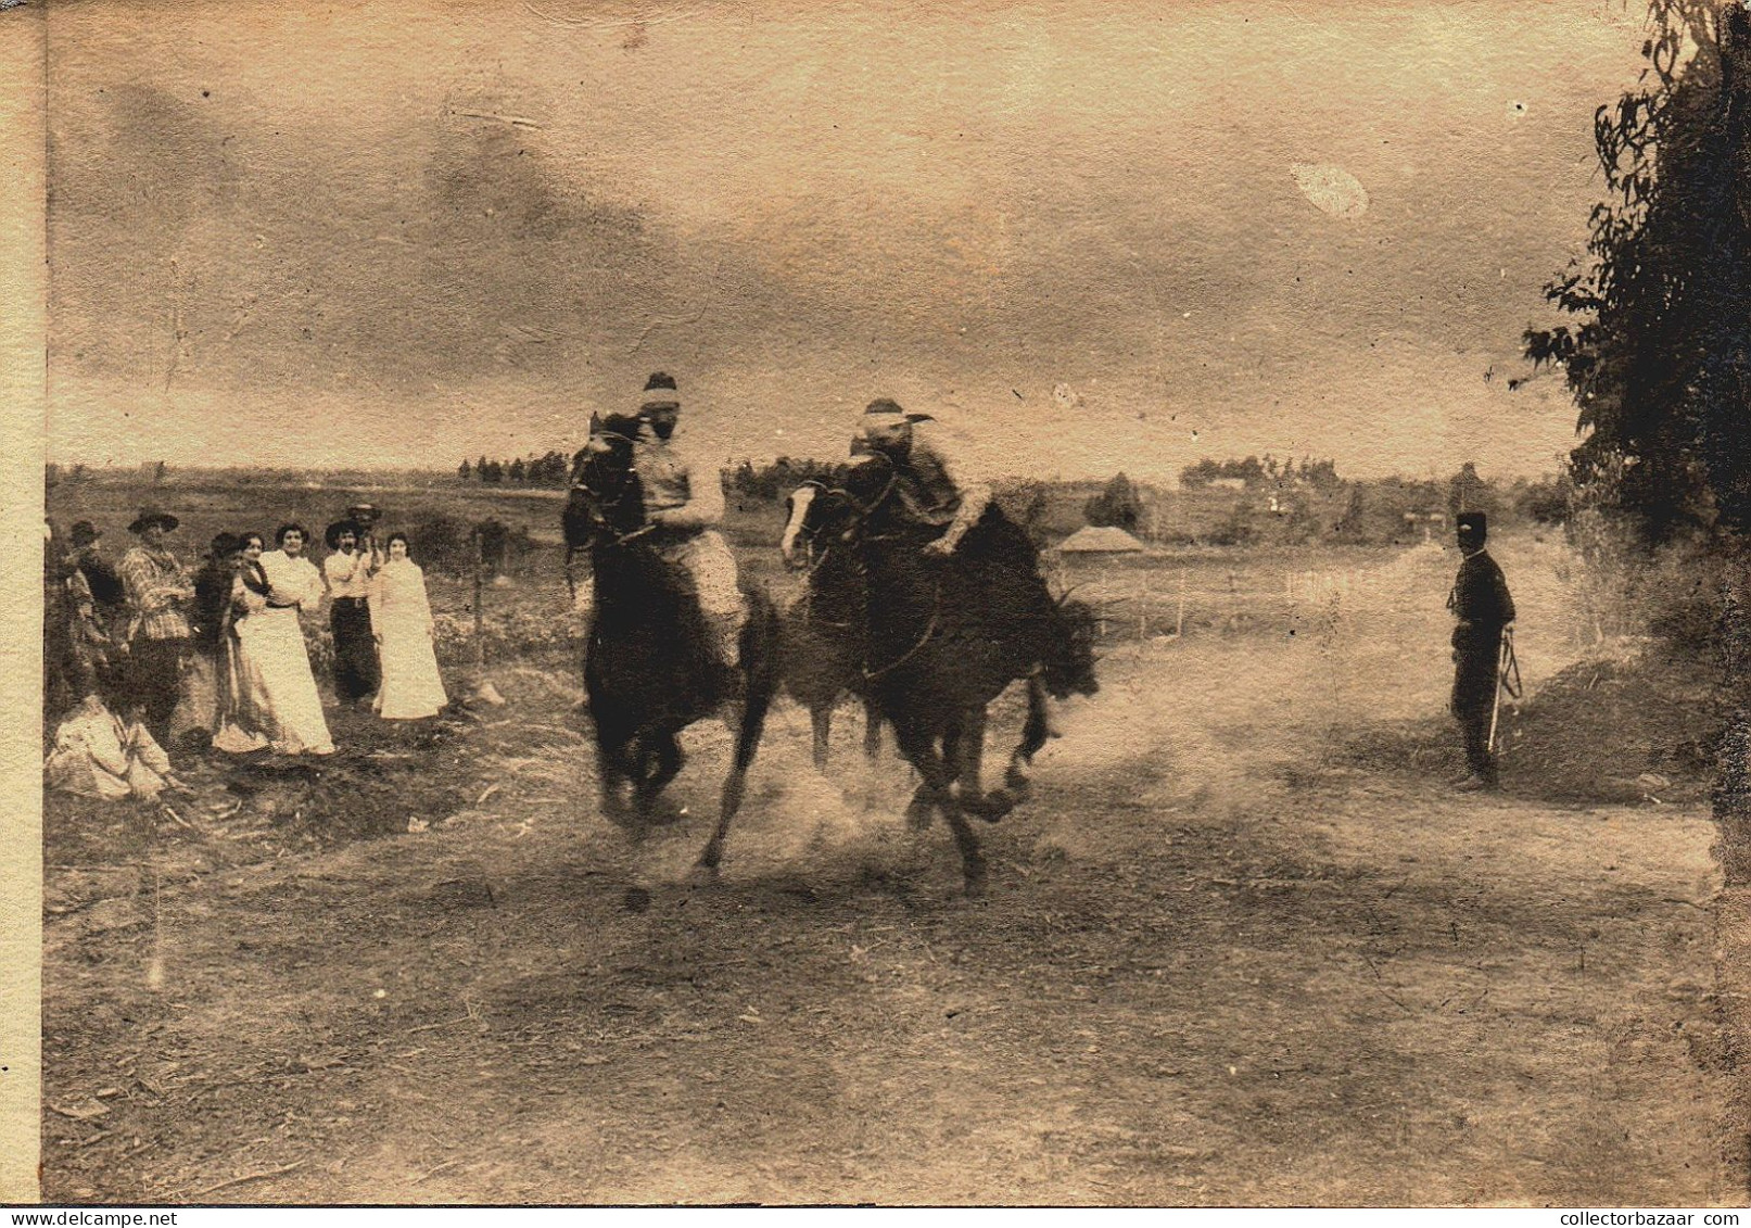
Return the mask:
[[[1497,557],[1536,687],[1560,587]],[[1355,750],[1441,729],[1448,582],[1411,552],[1296,636],[1114,650],[981,827],[975,902],[856,718],[821,780],[788,706],[723,883],[683,886],[721,730],[634,846],[574,681],[527,667],[326,783],[203,795],[198,832],[51,813],[44,1196],[1742,1203],[1746,909],[1705,806]],[[320,790],[401,834],[271,853]]]

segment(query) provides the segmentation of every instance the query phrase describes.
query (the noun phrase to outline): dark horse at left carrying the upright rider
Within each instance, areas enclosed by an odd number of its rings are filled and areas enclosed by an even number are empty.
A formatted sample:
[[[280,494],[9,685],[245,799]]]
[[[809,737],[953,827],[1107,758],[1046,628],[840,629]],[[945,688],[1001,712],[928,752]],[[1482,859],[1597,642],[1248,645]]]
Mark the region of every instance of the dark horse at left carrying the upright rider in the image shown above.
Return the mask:
[[[644,515],[632,466],[637,431],[632,415],[592,417],[564,517],[567,561],[588,550],[594,568],[583,685],[595,722],[602,808],[615,823],[643,832],[657,797],[681,771],[678,734],[723,713],[735,750],[718,829],[695,865],[697,874],[714,878],[777,687],[777,613],[763,590],[746,594],[741,664],[728,673],[713,662],[699,603],[653,548],[662,529]],[[630,815],[622,795],[627,787]]]

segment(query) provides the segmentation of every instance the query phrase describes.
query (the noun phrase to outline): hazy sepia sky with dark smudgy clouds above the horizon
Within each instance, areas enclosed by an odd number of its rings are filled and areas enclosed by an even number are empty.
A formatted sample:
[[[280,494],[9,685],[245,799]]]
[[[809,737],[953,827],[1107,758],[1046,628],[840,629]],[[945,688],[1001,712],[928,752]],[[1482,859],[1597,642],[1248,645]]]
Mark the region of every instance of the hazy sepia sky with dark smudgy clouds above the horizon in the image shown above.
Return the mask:
[[[1634,0],[61,0],[51,457],[450,466],[667,370],[725,457],[839,455],[890,394],[1010,471],[1548,471],[1572,408],[1508,380],[1641,37]]]

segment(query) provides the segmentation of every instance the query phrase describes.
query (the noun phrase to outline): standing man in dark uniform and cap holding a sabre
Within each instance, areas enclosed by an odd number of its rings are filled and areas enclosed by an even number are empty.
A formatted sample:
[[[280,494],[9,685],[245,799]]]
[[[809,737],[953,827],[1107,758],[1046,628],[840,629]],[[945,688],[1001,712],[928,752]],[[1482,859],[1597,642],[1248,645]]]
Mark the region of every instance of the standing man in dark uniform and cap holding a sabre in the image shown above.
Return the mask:
[[[1466,776],[1459,788],[1495,788],[1490,718],[1502,659],[1502,632],[1515,620],[1515,599],[1495,559],[1483,548],[1481,512],[1459,513],[1459,576],[1446,597],[1453,611],[1453,716],[1466,743]]]

